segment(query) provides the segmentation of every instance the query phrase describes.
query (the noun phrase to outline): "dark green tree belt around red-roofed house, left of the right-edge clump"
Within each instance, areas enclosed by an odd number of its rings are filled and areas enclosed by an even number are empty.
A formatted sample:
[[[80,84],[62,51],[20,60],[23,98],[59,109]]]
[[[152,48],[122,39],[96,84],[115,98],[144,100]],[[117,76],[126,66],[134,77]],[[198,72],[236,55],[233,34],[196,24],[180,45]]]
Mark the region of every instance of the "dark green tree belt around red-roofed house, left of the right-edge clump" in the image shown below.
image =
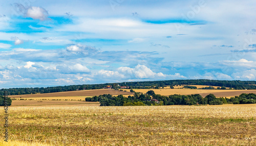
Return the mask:
[[[214,94],[209,94],[205,98],[200,94],[163,96],[155,94],[153,90],[146,94],[135,92],[134,96],[129,95],[127,98],[123,95],[103,94],[86,98],[86,101],[99,102],[100,106],[222,105],[227,102],[224,98],[216,98]]]

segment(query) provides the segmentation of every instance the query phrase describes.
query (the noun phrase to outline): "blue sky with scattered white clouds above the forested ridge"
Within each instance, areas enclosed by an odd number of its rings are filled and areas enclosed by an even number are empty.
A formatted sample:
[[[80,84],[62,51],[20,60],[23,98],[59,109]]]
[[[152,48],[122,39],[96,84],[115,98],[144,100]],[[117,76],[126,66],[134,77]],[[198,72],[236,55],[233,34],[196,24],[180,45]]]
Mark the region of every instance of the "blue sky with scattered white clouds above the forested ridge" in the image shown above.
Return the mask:
[[[2,1],[0,88],[256,80],[256,1]]]

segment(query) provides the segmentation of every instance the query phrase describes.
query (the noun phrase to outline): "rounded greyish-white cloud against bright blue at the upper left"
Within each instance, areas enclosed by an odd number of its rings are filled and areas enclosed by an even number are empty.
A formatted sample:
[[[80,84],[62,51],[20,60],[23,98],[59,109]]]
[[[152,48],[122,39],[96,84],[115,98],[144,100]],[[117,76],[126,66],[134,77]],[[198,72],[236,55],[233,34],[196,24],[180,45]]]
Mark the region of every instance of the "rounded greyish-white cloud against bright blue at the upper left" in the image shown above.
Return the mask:
[[[27,10],[27,17],[33,18],[33,19],[39,19],[41,21],[46,20],[48,18],[48,12],[46,9],[41,7],[30,7]]]

